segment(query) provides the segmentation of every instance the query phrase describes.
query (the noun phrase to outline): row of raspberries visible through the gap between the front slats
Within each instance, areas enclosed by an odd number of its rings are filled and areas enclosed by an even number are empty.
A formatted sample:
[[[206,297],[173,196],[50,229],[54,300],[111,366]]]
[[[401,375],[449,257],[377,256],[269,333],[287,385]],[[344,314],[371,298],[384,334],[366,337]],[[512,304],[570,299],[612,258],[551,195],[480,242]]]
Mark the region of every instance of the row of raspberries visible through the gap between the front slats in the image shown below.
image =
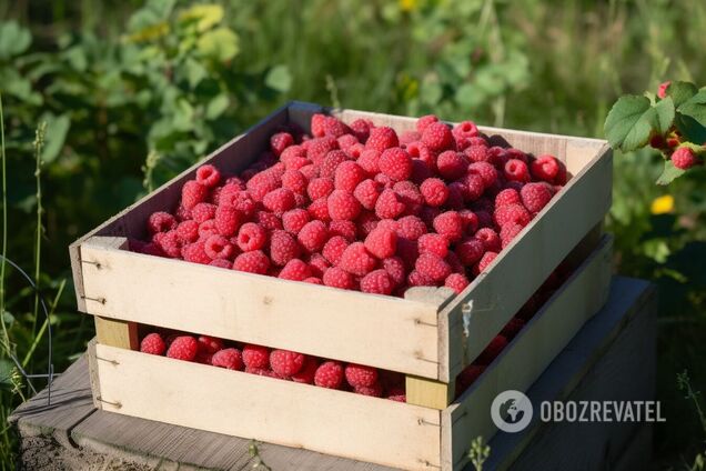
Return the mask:
[[[351,391],[406,402],[404,375],[355,363],[343,363],[289,350],[224,342],[209,335],[151,332],[140,342],[143,353],[167,355],[269,378]]]

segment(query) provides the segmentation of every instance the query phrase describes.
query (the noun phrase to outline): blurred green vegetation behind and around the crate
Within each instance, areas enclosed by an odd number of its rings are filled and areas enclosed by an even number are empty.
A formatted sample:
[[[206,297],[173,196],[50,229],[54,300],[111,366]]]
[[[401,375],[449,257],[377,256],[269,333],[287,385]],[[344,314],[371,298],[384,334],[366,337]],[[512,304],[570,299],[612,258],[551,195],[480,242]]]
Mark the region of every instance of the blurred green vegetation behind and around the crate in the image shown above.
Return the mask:
[[[7,254],[50,304],[62,371],[92,335],[67,245],[284,101],[602,138],[619,94],[705,84],[704,24],[693,0],[0,0]],[[705,437],[676,374],[706,383],[706,179],[656,187],[655,152],[615,161],[617,270],[660,294],[655,463],[689,469]],[[48,353],[33,291],[6,270],[3,468],[4,419],[31,394],[8,351],[32,372]]]

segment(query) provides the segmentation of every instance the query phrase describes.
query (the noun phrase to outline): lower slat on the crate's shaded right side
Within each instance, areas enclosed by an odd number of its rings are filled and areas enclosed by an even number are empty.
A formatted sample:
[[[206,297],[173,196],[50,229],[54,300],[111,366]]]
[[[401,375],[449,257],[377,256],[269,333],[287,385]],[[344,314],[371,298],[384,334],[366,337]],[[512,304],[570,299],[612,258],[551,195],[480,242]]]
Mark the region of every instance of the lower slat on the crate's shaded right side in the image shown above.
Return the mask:
[[[488,413],[493,399],[505,390],[525,391],[605,303],[611,249],[612,239],[606,237],[474,384],[442,412],[443,469],[456,469],[466,459],[472,439],[483,435],[487,440],[495,433]]]

